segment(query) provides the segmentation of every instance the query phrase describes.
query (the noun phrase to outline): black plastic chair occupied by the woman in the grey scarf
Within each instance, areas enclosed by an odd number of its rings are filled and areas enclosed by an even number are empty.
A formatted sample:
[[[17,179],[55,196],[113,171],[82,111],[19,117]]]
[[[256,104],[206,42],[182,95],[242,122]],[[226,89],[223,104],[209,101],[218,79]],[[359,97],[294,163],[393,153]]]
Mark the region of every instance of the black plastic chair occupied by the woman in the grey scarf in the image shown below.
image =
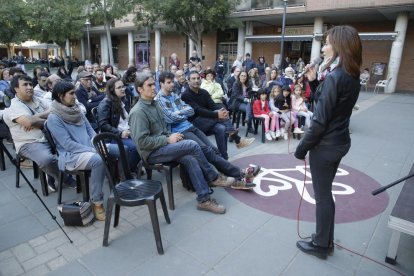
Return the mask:
[[[58,155],[55,140],[53,139],[53,135],[47,127],[47,121],[44,125],[43,134],[45,135],[46,140],[52,148],[52,152]],[[76,176],[76,193],[79,194],[80,192],[82,192],[83,201],[89,201],[89,176],[91,174],[91,170],[65,170],[65,173]],[[57,186],[58,204],[62,204],[63,175],[63,172],[59,171],[59,179]]]

